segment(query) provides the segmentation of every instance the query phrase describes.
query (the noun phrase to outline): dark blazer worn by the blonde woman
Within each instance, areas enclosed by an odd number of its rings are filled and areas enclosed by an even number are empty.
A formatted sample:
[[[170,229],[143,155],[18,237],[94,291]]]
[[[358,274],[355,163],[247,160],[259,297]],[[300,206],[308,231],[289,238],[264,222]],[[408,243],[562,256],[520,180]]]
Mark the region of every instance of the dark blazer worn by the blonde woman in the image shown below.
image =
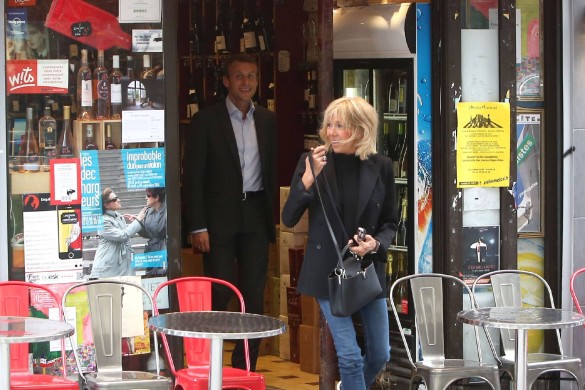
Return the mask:
[[[335,158],[331,153],[327,156],[327,165],[323,167],[317,180],[324,199],[327,218],[341,250],[349,238],[344,237],[342,222],[335,215],[341,209],[341,196],[337,188]],[[282,210],[282,222],[286,226],[294,226],[305,210],[309,210],[309,237],[297,291],[317,298],[328,298],[327,276],[337,264],[338,257],[315,184],[309,191],[305,191],[301,180],[305,172],[306,157],[307,154],[303,154],[297,164],[289,197]],[[331,189],[333,204],[325,192],[325,179]],[[396,235],[397,208],[392,161],[378,154],[363,160],[360,165],[356,221],[357,226],[365,228],[368,234],[380,241],[378,252],[366,255],[363,260],[374,262],[376,274],[383,289],[379,297],[386,296],[386,251]],[[353,237],[355,232],[347,232],[347,234]]]

